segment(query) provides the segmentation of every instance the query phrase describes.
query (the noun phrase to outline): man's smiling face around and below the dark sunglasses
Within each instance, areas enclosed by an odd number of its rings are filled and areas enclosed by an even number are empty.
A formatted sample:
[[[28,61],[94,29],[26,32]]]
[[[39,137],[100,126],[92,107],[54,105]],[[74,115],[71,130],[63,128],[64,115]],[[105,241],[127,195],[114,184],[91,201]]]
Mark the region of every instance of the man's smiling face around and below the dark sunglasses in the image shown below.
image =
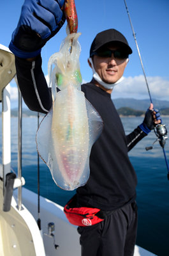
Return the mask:
[[[107,49],[112,51],[120,50],[117,46],[109,46]],[[109,57],[94,55],[93,64],[101,80],[112,84],[122,77],[127,61],[126,58],[115,58],[114,53],[112,53]]]

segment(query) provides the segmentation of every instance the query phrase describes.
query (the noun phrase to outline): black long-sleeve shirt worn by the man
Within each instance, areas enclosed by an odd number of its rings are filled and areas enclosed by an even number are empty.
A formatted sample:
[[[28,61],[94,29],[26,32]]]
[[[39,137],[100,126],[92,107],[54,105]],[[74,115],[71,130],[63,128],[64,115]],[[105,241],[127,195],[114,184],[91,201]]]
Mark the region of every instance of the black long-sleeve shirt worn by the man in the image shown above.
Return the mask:
[[[41,70],[41,58],[33,62],[16,58],[15,63],[18,85],[27,106],[47,113],[52,95]],[[101,115],[103,131],[92,146],[89,180],[77,189],[78,204],[112,211],[136,198],[136,173],[128,151],[147,134],[137,127],[125,135],[110,93],[91,83],[83,84],[82,92]]]

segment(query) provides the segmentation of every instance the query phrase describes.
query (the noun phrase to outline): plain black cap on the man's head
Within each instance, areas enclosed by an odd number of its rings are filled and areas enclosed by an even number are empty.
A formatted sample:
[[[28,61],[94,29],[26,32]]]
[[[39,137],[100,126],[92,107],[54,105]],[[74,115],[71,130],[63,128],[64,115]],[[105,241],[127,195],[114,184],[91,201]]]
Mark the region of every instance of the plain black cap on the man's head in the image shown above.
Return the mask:
[[[127,54],[132,53],[132,50],[129,47],[128,41],[126,40],[124,35],[122,35],[119,31],[115,29],[107,29],[105,31],[101,31],[100,33],[98,33],[92,41],[90,57],[93,55],[93,52],[98,51],[98,49],[103,47],[103,45],[110,44],[113,42],[117,42],[117,44],[120,44],[122,49],[124,49],[124,51]]]

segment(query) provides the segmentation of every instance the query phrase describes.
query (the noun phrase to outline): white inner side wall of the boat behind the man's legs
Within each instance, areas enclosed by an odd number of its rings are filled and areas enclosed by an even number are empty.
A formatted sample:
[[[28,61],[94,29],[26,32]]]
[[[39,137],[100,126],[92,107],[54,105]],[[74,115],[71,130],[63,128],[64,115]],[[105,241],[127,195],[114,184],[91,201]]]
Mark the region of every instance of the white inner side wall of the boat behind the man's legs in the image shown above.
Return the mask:
[[[23,188],[22,189],[22,202],[26,205],[27,209],[33,214],[35,220],[38,220],[38,195],[32,191]],[[45,252],[47,256],[80,256],[81,248],[79,244],[79,238],[77,227],[71,225],[61,205],[40,196],[40,219],[41,229],[43,233],[48,232],[48,223],[54,222],[55,224],[55,244],[59,245],[57,252],[54,246],[54,240],[48,236],[43,235],[43,242],[45,245]],[[154,256],[153,253],[135,246],[134,256]]]

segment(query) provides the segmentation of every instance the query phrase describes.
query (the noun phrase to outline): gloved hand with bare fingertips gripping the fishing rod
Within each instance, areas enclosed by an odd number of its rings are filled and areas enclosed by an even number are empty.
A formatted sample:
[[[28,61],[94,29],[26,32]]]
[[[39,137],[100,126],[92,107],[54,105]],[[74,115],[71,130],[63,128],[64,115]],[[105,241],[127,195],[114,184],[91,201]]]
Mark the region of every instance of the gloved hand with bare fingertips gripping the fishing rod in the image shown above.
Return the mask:
[[[143,120],[143,123],[139,125],[140,129],[142,129],[143,132],[148,134],[151,132],[152,129],[157,124],[161,124],[161,116],[159,114],[158,109],[153,109],[153,104],[151,103],[151,106],[149,109],[147,109],[147,112],[145,113],[145,118]]]

